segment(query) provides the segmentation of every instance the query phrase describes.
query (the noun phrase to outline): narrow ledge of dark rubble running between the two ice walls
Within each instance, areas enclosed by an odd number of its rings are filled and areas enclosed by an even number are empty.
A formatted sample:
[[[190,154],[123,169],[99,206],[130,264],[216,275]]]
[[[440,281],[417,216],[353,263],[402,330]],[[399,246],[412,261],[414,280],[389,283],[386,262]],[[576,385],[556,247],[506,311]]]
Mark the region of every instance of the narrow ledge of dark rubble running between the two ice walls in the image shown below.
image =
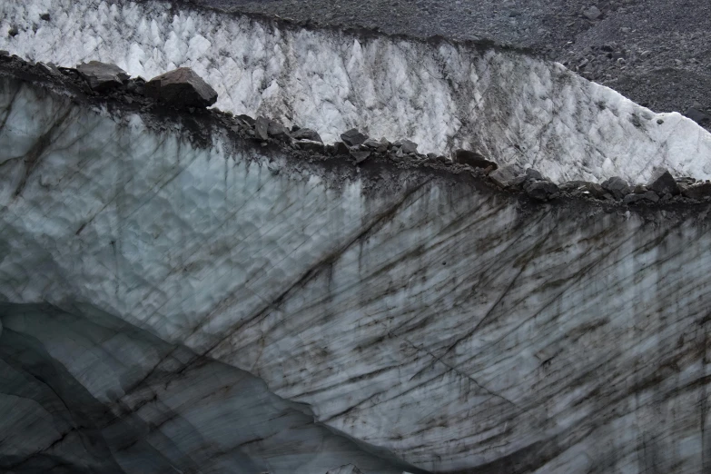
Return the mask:
[[[339,176],[335,181],[355,179],[364,169],[385,165],[402,170],[419,169],[457,181],[469,180],[477,187],[489,187],[494,192],[518,196],[533,204],[576,200],[608,211],[627,207],[642,211],[657,206],[694,208],[711,201],[711,183],[696,182],[691,177],[675,180],[669,173],[663,173],[666,170],[657,169],[655,180],[648,186],[629,185],[621,178],[607,180],[602,185],[582,181],[553,183],[533,168],[524,170],[517,165],[499,168],[497,163],[482,159],[478,153],[459,150],[454,153],[452,161],[442,155],[418,153],[417,144],[408,140],[391,143],[381,139],[376,142],[355,130],[351,134],[358,136],[341,133],[341,140],[346,143],[324,144],[318,133],[298,126],[293,126],[290,132],[278,120],[234,116],[218,109],[186,109],[181,104],[167,104],[146,95],[141,78],[131,78],[121,86],[97,90],[76,69],[33,64],[3,53],[0,53],[0,75],[35,84],[55,94],[70,95],[74,101],[97,109],[141,114],[143,122],[156,132],[180,126],[186,139],[205,149],[214,145],[216,135],[227,135],[235,140],[232,143],[235,147],[249,144],[261,150],[265,147],[280,150],[295,159],[295,163],[321,163],[331,171],[335,169],[335,175]],[[334,181],[333,175],[330,179]]]

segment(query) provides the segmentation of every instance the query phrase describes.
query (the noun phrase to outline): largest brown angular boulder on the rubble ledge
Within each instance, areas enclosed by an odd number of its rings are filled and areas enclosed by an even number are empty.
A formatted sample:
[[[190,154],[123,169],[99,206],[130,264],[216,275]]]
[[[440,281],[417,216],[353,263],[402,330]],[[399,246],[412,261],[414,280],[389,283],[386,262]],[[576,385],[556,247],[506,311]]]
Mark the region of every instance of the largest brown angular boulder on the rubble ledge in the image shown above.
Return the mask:
[[[209,107],[217,102],[215,90],[189,67],[153,77],[145,84],[145,92],[176,107]]]

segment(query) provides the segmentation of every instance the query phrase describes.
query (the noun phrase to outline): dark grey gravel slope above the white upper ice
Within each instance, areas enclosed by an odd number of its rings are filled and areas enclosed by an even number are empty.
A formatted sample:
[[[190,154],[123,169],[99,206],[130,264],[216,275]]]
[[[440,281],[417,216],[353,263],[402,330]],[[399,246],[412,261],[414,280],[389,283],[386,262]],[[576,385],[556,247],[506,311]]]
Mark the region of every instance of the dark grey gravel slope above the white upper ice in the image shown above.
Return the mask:
[[[314,25],[524,46],[657,112],[695,107],[697,121],[711,125],[703,118],[711,114],[711,0],[192,1]]]

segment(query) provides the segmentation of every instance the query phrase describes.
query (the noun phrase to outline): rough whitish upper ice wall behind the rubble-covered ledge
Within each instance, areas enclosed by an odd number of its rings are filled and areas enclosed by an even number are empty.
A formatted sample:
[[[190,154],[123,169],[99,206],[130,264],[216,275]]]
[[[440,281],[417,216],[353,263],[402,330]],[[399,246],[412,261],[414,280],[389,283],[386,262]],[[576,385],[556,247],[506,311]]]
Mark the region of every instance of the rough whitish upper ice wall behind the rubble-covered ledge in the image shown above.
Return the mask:
[[[184,4],[183,4],[184,5]],[[45,21],[40,15],[51,13]],[[161,2],[0,4],[0,48],[74,66],[101,60],[150,78],[190,66],[235,114],[283,117],[327,141],[358,127],[533,166],[554,181],[646,182],[655,166],[711,178],[711,134],[515,51],[306,29]]]

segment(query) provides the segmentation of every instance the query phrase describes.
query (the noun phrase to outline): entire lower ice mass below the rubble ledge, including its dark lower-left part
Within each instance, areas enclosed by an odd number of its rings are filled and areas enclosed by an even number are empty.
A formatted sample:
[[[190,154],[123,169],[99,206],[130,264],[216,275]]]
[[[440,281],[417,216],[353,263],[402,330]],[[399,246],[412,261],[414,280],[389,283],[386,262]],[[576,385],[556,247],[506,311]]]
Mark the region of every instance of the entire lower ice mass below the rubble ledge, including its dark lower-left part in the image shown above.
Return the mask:
[[[3,469],[711,467],[711,204],[532,202],[212,117],[0,68]]]

